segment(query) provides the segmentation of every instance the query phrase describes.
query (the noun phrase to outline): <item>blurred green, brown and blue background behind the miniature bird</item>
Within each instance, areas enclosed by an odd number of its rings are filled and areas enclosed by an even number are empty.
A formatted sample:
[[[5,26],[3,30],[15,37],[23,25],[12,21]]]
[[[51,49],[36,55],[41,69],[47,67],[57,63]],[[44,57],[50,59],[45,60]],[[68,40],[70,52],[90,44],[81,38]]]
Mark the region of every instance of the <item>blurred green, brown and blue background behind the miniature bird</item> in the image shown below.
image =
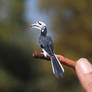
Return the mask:
[[[0,92],[83,92],[72,69],[57,79],[50,62],[32,57],[40,32],[26,28],[38,20],[55,53],[92,61],[92,0],[0,0]]]

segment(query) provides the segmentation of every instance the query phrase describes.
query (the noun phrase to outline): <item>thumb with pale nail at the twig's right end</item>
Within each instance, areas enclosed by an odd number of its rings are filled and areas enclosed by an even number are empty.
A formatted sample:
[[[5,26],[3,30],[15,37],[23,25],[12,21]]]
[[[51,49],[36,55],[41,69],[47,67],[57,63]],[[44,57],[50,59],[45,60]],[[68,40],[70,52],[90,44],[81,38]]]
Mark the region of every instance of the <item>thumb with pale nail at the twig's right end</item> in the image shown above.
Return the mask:
[[[83,89],[86,92],[92,92],[92,65],[88,60],[85,58],[79,59],[76,63],[75,71]]]

